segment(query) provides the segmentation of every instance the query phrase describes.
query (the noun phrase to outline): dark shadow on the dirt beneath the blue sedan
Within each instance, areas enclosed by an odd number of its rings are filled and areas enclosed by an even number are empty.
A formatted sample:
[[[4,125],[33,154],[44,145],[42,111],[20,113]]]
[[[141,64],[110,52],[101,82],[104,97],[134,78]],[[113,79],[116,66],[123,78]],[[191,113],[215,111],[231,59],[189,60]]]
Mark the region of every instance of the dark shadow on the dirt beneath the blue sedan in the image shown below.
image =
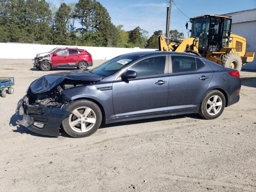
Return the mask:
[[[177,115],[177,116],[168,116],[168,117],[151,118],[151,119],[143,119],[143,120],[125,121],[125,122],[118,122],[118,123],[112,123],[112,124],[103,124],[100,127],[100,129],[116,127],[116,126],[132,125],[132,124],[149,123],[149,122],[155,122],[155,121],[175,120],[175,119],[181,119],[181,118],[203,119],[198,114]],[[12,117],[10,118],[9,125],[16,127],[16,130],[15,129],[12,130],[13,132],[18,132],[20,134],[30,134],[32,136],[38,136],[38,137],[44,137],[44,138],[56,138],[55,136],[47,136],[47,135],[34,133],[28,130],[28,128],[18,125],[17,123],[18,120],[22,120],[22,115],[13,114]],[[62,128],[60,128],[60,136],[71,138],[68,134],[66,134],[66,132]]]

